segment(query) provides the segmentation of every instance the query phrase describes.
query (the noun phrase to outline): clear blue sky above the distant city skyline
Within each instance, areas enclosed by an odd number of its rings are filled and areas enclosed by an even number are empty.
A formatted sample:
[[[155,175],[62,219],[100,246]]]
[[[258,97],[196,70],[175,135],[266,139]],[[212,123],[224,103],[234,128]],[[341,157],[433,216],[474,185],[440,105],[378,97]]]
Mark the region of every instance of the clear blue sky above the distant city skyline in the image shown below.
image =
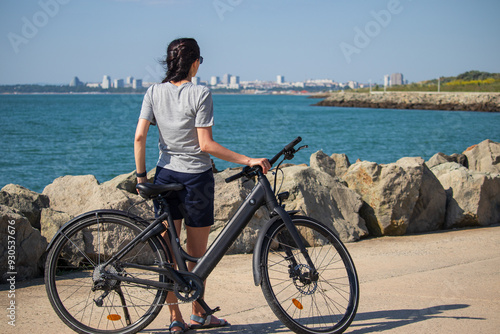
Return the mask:
[[[500,72],[498,0],[2,0],[0,84],[158,81],[198,40],[202,80],[410,82]]]

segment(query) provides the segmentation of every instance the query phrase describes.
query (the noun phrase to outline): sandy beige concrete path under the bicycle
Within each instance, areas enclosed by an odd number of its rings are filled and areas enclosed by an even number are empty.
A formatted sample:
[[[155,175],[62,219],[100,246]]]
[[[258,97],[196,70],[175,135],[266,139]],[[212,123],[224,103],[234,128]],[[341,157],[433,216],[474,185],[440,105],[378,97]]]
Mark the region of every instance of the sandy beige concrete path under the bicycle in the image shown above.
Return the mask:
[[[346,333],[498,333],[500,226],[348,244],[360,279],[360,306]],[[197,333],[292,333],[253,285],[251,255],[226,256],[206,300],[232,326]],[[52,310],[42,279],[16,284],[16,326],[0,285],[0,333],[72,333]],[[183,305],[184,314],[190,306]],[[167,308],[141,333],[168,333]],[[191,331],[190,333],[196,333]]]

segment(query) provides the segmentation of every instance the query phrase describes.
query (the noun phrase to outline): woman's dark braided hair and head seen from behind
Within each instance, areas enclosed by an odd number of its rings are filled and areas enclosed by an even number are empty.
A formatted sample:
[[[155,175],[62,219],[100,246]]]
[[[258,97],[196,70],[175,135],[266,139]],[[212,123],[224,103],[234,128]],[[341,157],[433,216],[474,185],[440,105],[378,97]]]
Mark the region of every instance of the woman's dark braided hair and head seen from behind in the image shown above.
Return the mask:
[[[167,75],[162,82],[186,79],[191,65],[200,58],[200,47],[194,38],[179,38],[170,42],[162,60]]]

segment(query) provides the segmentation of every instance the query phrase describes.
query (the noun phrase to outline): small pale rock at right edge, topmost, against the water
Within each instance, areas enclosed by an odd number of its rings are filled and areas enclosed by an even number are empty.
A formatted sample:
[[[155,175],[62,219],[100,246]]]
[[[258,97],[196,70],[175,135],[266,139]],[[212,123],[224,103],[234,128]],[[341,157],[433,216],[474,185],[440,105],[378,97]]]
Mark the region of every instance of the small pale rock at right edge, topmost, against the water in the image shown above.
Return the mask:
[[[463,154],[467,156],[469,169],[484,173],[500,173],[500,143],[486,139]]]

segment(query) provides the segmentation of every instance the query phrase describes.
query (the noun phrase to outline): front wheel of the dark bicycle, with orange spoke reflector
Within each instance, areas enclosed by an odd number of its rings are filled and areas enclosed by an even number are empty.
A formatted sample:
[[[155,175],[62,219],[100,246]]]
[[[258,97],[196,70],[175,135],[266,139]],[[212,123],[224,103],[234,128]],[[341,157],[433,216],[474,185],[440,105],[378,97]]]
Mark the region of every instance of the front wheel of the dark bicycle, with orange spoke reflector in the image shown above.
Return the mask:
[[[316,281],[307,278],[310,268],[285,223],[278,220],[261,249],[264,296],[278,319],[296,333],[343,333],[354,320],[359,302],[351,256],[322,223],[309,217],[291,218],[319,276]]]

